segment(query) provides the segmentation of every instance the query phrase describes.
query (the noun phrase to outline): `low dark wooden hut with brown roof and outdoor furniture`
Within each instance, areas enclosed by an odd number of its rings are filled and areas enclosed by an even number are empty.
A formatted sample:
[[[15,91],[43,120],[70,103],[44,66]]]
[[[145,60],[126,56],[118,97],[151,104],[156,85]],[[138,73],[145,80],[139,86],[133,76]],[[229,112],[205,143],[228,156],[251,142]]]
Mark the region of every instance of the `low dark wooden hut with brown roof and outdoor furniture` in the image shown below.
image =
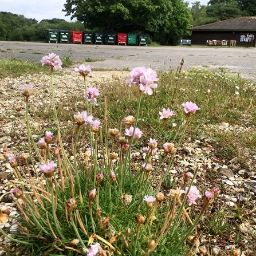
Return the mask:
[[[191,45],[256,47],[256,17],[239,17],[192,27]]]

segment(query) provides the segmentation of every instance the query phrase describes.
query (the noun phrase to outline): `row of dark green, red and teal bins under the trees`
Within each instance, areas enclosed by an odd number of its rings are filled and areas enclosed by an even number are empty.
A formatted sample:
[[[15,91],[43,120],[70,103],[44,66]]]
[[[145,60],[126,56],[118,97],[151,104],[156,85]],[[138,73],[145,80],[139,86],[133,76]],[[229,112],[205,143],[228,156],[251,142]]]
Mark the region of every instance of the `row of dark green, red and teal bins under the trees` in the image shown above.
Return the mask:
[[[46,30],[47,42],[72,44],[148,45],[148,34],[97,33],[91,31]]]

